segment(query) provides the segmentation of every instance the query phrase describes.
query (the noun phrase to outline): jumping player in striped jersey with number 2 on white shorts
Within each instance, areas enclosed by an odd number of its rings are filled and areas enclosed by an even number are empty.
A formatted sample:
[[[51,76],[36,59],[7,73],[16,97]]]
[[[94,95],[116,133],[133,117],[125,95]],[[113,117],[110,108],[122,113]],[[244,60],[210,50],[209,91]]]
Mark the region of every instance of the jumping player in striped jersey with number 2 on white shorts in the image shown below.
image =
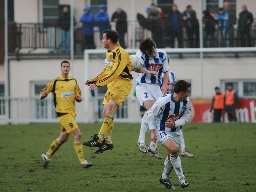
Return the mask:
[[[136,96],[140,106],[143,106],[147,111],[152,107],[158,97],[166,94],[166,85],[169,79],[169,66],[167,54],[162,49],[156,49],[156,43],[150,38],[146,38],[140,43],[140,50],[136,53],[140,58],[141,67],[135,72],[139,73],[136,79]],[[151,74],[149,73],[151,72]],[[156,74],[152,74],[156,72]],[[162,74],[164,78],[162,80]],[[162,87],[159,84],[163,83]],[[148,113],[142,117],[140,126],[140,136],[137,145],[142,153],[150,151],[156,158],[162,159],[159,154],[157,143],[151,142],[147,148],[145,145],[145,134],[148,130]]]

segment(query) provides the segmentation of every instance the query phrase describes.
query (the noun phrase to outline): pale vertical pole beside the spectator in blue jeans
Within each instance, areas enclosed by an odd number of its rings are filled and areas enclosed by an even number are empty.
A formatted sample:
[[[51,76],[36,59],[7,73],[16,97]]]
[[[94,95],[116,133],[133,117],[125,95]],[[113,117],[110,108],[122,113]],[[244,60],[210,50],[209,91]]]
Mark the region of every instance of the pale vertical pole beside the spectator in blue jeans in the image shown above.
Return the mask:
[[[74,77],[74,0],[70,0],[70,63],[71,77]]]

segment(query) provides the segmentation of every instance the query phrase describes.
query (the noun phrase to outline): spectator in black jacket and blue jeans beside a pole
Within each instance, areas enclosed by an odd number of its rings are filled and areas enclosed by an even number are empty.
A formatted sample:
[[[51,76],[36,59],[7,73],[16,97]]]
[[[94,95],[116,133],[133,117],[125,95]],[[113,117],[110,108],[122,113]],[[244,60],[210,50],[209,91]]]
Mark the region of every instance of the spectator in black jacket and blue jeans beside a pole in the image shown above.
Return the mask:
[[[59,16],[59,26],[61,28],[61,51],[70,51],[70,12],[68,6],[63,7]]]

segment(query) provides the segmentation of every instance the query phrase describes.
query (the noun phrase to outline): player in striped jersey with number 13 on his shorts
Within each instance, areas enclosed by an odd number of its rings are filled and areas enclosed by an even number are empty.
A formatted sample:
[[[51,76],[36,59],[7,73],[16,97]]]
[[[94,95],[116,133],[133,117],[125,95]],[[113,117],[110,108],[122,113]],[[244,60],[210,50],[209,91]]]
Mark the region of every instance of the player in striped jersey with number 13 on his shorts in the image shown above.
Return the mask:
[[[180,132],[182,126],[191,117],[190,100],[188,98],[191,84],[179,80],[172,94],[166,94],[156,100],[156,103],[148,111],[148,126],[151,132],[151,140],[161,140],[168,154],[164,162],[164,172],[160,182],[166,188],[173,188],[169,175],[174,170],[179,177],[180,186],[188,187],[181,168],[181,160],[178,154],[180,148]]]

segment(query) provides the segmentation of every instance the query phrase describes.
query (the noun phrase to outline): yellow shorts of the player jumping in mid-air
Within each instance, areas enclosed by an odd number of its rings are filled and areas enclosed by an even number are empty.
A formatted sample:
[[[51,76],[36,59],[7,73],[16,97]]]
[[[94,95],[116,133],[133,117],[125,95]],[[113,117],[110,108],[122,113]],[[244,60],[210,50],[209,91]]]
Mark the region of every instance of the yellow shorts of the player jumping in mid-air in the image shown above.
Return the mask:
[[[108,84],[108,90],[105,94],[103,104],[108,104],[111,99],[120,107],[131,92],[131,89],[132,81],[128,79],[115,79]]]

